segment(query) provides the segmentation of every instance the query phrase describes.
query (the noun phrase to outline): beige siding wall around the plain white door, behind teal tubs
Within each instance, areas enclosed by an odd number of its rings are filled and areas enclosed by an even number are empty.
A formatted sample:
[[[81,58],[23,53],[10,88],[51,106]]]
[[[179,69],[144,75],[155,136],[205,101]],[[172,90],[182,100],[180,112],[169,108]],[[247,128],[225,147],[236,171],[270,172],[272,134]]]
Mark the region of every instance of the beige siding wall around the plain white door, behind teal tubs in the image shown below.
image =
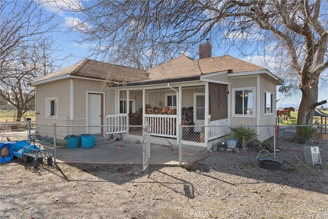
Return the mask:
[[[103,88],[97,81],[74,79],[74,120],[86,122],[87,91],[105,92],[105,115],[115,113],[115,91],[113,89]],[[83,124],[83,122],[77,123]]]

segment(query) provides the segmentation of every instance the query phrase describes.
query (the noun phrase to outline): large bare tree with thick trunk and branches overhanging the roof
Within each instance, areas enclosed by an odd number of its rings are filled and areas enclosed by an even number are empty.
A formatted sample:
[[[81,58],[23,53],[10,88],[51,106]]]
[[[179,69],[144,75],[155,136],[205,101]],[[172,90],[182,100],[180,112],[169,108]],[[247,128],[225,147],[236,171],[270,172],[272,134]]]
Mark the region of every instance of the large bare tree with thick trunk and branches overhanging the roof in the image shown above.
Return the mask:
[[[319,78],[328,67],[327,11],[320,0],[92,1],[83,2],[75,15],[88,25],[83,41],[103,51],[120,44],[134,48],[134,42],[198,44],[209,34],[228,36],[231,44],[246,39],[239,45],[253,44],[258,54],[273,54],[277,63],[289,65],[289,75],[297,76],[290,82],[297,81],[302,92],[297,123],[312,124]]]

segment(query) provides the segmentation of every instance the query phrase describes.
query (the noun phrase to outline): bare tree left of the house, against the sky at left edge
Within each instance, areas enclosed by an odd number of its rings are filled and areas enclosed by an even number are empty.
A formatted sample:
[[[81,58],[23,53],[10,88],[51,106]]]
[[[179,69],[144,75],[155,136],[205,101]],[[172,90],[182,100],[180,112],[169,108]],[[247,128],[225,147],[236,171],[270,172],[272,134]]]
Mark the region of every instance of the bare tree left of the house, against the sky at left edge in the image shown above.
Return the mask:
[[[50,36],[59,24],[37,1],[2,1],[0,14],[0,95],[17,109],[20,121],[35,96],[28,83],[62,64]]]

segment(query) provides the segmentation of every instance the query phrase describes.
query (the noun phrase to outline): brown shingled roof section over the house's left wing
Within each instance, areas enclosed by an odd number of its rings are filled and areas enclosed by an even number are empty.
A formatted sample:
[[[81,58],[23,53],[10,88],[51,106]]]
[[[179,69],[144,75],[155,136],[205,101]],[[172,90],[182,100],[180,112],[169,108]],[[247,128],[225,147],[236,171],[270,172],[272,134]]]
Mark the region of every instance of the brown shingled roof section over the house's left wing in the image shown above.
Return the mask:
[[[67,74],[95,79],[110,78],[110,80],[113,82],[135,82],[144,81],[147,79],[145,70],[114,65],[85,58],[74,65],[68,66],[57,72],[39,78],[36,81],[33,81],[33,83]]]

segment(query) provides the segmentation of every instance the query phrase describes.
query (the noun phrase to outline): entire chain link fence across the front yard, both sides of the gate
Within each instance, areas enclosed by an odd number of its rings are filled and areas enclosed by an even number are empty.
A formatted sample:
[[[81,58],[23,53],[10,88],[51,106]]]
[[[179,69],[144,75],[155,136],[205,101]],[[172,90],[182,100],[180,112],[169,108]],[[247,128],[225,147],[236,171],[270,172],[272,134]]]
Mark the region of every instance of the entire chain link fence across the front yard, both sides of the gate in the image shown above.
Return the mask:
[[[2,127],[1,141],[31,141],[54,148],[54,161],[90,164],[150,164],[149,126],[70,126],[36,123]],[[215,161],[241,164],[260,157],[278,158],[296,167],[311,164],[304,147],[318,147],[321,163],[328,163],[328,128],[315,126],[178,126],[178,162],[191,164],[214,155]],[[31,138],[28,135],[33,135]],[[33,144],[33,141],[31,142]],[[157,143],[158,147],[158,143]],[[176,146],[172,146],[172,149]],[[161,148],[162,149],[162,148]],[[154,149],[153,149],[154,150]],[[177,151],[175,151],[177,152]],[[152,156],[169,161],[174,151]],[[177,155],[175,155],[177,156]],[[313,164],[313,163],[312,163]]]

